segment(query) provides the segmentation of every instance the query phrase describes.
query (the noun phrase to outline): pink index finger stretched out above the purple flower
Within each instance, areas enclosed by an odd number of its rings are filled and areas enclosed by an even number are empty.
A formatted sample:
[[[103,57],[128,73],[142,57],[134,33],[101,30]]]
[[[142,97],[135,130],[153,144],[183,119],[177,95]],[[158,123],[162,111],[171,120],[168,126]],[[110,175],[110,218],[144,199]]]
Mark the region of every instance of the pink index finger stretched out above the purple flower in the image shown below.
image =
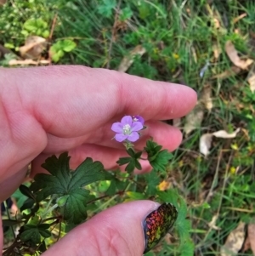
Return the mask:
[[[11,85],[19,79],[26,110],[46,132],[59,137],[81,136],[123,114],[145,119],[184,116],[196,100],[186,86],[104,69],[66,65],[4,72]]]

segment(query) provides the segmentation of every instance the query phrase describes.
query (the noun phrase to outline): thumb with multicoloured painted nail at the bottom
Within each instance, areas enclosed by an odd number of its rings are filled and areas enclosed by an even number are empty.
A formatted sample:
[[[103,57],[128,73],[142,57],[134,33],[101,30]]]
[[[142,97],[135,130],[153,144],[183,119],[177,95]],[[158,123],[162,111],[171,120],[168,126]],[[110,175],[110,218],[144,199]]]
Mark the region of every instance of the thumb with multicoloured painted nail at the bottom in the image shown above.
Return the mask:
[[[162,208],[164,208],[163,212]],[[166,235],[173,225],[176,213],[171,204],[160,206],[151,201],[122,203],[106,209],[86,223],[77,226],[42,255],[140,256]],[[144,222],[145,219],[147,221]],[[173,219],[171,223],[169,219]],[[155,224],[157,230],[155,232],[147,230],[146,235],[144,226]]]

